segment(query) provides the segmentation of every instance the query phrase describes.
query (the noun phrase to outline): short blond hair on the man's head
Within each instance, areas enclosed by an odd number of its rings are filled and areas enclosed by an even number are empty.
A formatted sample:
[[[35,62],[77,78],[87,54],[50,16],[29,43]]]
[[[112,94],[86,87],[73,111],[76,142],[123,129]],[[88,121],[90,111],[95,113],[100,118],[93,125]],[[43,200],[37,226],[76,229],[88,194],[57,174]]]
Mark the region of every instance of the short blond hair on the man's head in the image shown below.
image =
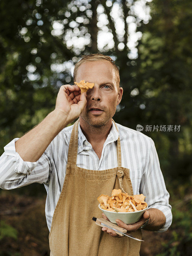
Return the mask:
[[[73,81],[75,82],[76,80],[76,75],[77,75],[77,70],[79,68],[79,66],[87,61],[97,61],[97,60],[108,60],[111,62],[111,64],[113,65],[114,69],[115,69],[115,75],[116,75],[116,85],[117,88],[120,87],[120,77],[119,77],[119,69],[117,68],[117,66],[115,65],[115,61],[111,59],[111,57],[100,54],[100,53],[93,53],[93,54],[89,54],[89,55],[82,55],[81,56],[82,59],[79,60],[76,64],[75,64],[75,68],[74,68],[74,72],[73,72]]]

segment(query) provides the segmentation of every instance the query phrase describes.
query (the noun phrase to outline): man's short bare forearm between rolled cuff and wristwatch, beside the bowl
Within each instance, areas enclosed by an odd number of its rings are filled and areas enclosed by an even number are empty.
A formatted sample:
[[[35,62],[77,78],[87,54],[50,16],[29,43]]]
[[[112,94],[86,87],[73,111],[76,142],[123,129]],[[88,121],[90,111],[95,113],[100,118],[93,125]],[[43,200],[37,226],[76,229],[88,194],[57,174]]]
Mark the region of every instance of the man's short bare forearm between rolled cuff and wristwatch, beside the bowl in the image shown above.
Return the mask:
[[[149,212],[149,222],[143,229],[156,231],[162,228],[166,221],[164,213],[156,208],[149,208],[147,211]]]

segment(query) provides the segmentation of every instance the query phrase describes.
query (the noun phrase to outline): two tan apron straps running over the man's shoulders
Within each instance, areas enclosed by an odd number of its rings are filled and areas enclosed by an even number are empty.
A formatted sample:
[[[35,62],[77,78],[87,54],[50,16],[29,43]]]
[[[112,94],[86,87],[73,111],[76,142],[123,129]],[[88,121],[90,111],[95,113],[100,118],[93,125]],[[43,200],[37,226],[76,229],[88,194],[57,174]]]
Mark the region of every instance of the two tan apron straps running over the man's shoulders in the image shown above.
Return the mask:
[[[117,129],[115,121],[113,119],[112,119],[112,121],[114,122],[115,127]],[[77,121],[73,125],[73,129],[72,129],[72,132],[71,132],[67,164],[76,165],[76,162],[77,162],[78,124],[79,124],[79,118],[77,119]],[[117,129],[117,132],[119,132],[118,129]],[[117,148],[117,162],[118,162],[118,166],[121,166],[121,143],[120,143],[120,137],[118,137],[117,145],[116,146],[117,146],[116,147]]]

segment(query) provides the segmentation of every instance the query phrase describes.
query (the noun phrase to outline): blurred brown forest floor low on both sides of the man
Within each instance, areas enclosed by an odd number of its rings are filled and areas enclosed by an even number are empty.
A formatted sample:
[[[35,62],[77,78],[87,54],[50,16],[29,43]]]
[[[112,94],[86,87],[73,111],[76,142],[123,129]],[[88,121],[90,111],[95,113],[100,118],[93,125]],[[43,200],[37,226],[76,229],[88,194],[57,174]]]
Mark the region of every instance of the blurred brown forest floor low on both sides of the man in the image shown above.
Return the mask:
[[[0,256],[49,256],[49,230],[45,219],[46,195],[23,196],[2,190],[0,193],[0,220],[16,228],[18,238],[4,237],[0,240]],[[143,230],[140,256],[155,256],[161,252],[170,231],[154,233]],[[121,238],[119,238],[121,239]]]

